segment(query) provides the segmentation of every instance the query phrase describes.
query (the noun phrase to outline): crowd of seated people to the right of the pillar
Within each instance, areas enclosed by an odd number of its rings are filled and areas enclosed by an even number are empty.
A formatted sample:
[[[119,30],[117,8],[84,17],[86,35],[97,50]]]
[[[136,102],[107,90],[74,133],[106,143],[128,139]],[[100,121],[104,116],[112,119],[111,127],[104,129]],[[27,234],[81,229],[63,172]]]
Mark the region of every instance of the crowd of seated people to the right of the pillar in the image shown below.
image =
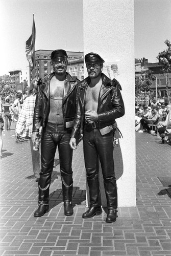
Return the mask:
[[[162,102],[151,102],[149,106],[135,105],[135,131],[148,132],[159,137],[162,143],[171,139],[171,105]]]

